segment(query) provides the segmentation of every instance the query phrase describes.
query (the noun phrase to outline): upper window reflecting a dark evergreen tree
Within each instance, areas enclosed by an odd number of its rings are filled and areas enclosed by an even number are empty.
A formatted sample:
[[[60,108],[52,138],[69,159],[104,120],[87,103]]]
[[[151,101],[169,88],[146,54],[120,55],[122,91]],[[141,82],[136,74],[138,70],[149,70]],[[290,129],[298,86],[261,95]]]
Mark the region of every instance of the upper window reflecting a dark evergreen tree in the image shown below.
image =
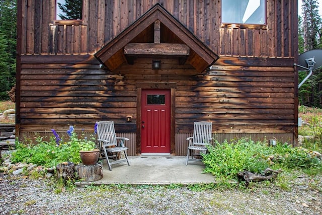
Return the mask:
[[[56,20],[83,20],[83,0],[56,0]]]

